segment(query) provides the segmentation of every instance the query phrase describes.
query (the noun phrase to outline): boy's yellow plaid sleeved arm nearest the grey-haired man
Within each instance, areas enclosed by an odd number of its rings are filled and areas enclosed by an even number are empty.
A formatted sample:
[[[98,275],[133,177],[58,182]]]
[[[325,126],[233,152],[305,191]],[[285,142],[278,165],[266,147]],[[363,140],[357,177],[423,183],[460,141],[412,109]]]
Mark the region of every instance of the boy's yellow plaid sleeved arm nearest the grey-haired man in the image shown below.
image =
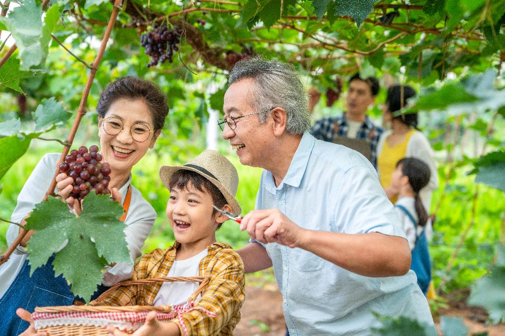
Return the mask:
[[[184,326],[177,323],[182,335],[215,335],[229,328],[229,334],[239,321],[238,311],[244,302],[244,266],[238,253],[223,248],[210,261],[211,280],[194,308],[181,314]],[[212,316],[215,315],[215,316]],[[184,329],[187,329],[185,331]]]

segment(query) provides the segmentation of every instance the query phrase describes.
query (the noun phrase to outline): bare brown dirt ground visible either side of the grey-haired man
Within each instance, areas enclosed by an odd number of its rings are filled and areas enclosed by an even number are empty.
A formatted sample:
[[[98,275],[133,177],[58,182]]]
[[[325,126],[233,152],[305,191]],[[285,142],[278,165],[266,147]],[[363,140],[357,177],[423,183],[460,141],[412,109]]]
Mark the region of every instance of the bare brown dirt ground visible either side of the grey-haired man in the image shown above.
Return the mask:
[[[271,275],[266,278],[272,280]],[[262,277],[263,278],[263,277]],[[264,278],[263,278],[264,279]],[[282,314],[281,295],[275,283],[260,278],[247,278],[245,302],[240,310],[242,318],[235,328],[239,336],[283,336],[286,332]],[[505,324],[486,325],[487,314],[478,307],[468,307],[464,300],[448,302],[450,307],[439,310],[439,315],[463,317],[470,333],[488,332],[488,336],[505,335]],[[435,322],[439,324],[438,318]]]

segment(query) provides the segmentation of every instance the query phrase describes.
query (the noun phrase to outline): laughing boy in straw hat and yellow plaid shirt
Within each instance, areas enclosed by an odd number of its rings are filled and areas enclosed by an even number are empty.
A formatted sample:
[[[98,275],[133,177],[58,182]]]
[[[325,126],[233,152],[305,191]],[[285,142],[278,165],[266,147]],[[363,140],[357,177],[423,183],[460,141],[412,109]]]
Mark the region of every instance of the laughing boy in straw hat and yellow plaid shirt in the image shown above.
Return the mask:
[[[172,247],[145,254],[135,264],[131,280],[164,277],[210,277],[210,283],[190,311],[161,322],[151,312],[135,334],[231,335],[240,320],[244,301],[242,259],[225,243],[216,242],[215,231],[228,218],[213,205],[239,215],[235,199],[238,174],[221,154],[207,150],[184,166],[163,166],[160,177],[170,199],[167,218],[174,231]],[[238,226],[237,226],[238,229]],[[186,303],[198,283],[164,282],[120,287],[91,305],[178,305]],[[123,334],[109,327],[109,331]]]

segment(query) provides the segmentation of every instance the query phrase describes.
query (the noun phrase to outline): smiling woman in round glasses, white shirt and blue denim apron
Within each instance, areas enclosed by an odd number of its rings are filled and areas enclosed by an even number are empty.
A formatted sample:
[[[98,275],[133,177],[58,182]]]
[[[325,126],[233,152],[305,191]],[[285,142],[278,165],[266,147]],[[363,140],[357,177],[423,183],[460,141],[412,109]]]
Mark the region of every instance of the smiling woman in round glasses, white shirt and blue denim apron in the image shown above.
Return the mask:
[[[168,107],[165,95],[156,85],[138,78],[124,77],[107,86],[96,110],[102,162],[109,163],[111,168],[109,189],[113,198],[121,204],[125,203],[126,198],[129,199],[124,223],[132,262],[107,267],[102,284],[112,286],[130,278],[133,260],[140,256],[144,240],[156,219],[153,207],[131,185],[131,169],[155,145]],[[59,159],[60,154],[50,153],[40,160],[19,193],[12,221],[24,223],[35,205],[40,203],[51,184]],[[74,198],[69,196],[73,179],[61,173],[57,181],[56,191],[73,205]],[[18,233],[19,228],[11,225],[7,231],[8,243],[12,243]],[[66,280],[62,276],[55,277],[52,266],[54,256],[29,276],[30,266],[24,246],[31,234],[27,234],[11,258],[0,266],[2,335],[19,334],[28,327],[28,323],[16,316],[17,308],[33,311],[36,306],[71,305],[75,300]]]

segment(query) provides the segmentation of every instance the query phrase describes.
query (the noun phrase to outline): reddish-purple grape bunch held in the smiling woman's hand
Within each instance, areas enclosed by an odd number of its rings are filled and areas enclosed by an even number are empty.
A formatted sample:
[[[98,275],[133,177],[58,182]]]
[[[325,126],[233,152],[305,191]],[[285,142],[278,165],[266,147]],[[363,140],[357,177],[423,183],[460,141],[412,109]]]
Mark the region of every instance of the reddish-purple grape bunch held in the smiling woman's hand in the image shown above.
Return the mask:
[[[100,161],[102,155],[98,153],[98,147],[95,145],[89,147],[89,152],[85,146],[81,146],[65,157],[65,162],[60,164],[60,172],[74,179],[74,190],[70,196],[82,199],[90,191],[97,195],[111,193],[107,188],[111,180],[111,168],[107,162]]]

